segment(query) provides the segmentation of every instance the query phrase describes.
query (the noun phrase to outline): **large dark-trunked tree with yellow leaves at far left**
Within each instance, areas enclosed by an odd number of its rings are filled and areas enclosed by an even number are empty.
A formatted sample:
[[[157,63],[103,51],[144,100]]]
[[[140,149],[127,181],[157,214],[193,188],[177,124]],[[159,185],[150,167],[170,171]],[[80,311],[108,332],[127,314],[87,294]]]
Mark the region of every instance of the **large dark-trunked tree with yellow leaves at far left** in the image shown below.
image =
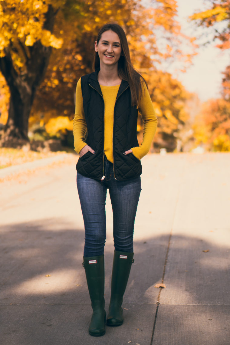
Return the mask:
[[[6,130],[28,139],[28,119],[36,90],[46,72],[51,47],[61,40],[52,35],[63,1],[0,2],[0,71],[10,90]]]

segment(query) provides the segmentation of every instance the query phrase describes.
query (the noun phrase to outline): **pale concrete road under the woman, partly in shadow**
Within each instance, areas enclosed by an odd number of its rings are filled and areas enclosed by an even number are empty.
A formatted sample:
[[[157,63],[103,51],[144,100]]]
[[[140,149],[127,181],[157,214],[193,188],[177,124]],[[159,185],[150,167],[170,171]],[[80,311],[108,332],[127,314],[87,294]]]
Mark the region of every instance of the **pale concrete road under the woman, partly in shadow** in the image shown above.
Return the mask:
[[[1,345],[229,345],[230,154],[147,155],[121,327],[91,337],[77,156],[0,183]],[[106,307],[113,256],[107,200]],[[155,288],[157,283],[166,288]]]

